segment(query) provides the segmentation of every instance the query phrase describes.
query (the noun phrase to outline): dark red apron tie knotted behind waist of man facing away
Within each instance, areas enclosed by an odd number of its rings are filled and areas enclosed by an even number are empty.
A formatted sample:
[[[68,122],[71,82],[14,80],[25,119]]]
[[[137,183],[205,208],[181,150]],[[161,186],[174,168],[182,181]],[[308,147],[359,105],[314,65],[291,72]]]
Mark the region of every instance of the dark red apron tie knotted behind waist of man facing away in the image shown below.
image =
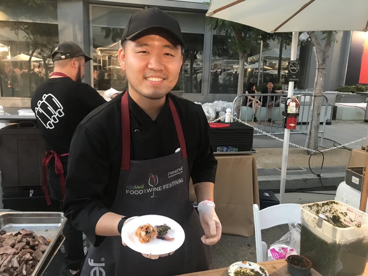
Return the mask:
[[[69,153],[64,153],[58,155],[55,151],[46,152],[45,157],[42,159],[42,170],[43,170],[43,192],[45,193],[47,205],[51,204],[49,191],[47,190],[47,164],[49,164],[52,158],[55,158],[55,173],[60,176],[60,187],[61,187],[61,197],[64,200],[65,194],[65,177],[64,177],[64,169],[63,164],[61,164],[60,157],[67,156]]]

